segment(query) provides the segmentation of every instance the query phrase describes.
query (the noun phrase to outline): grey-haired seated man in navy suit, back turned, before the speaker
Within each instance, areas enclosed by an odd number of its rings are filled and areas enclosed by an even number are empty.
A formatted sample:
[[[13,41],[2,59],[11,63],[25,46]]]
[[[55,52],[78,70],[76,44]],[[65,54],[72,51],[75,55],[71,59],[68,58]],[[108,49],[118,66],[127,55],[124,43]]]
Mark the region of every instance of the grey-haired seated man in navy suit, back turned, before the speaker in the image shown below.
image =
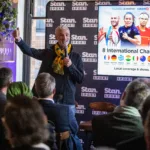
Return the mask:
[[[62,150],[82,150],[77,137],[78,124],[71,107],[64,104],[56,104],[53,100],[55,94],[55,78],[49,73],[41,73],[35,80],[35,89],[39,103],[44,109],[48,120],[55,124],[57,133],[69,131],[69,138],[64,140]]]

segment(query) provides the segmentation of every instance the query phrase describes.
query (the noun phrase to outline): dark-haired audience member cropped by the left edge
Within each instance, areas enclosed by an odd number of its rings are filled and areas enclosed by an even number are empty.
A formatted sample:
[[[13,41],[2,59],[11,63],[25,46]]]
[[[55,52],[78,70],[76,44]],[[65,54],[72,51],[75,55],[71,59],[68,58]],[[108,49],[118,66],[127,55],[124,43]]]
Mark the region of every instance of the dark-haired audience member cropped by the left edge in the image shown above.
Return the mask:
[[[6,92],[8,85],[12,82],[12,71],[9,68],[0,68],[0,116],[3,115],[6,104]]]

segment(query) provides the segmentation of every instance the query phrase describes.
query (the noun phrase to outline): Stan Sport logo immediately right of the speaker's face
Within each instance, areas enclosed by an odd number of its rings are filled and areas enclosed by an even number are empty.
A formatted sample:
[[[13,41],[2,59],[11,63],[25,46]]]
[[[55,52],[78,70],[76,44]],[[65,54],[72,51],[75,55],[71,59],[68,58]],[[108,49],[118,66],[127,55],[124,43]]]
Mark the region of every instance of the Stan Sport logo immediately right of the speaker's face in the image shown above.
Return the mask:
[[[71,35],[71,44],[86,45],[87,37],[85,35]]]

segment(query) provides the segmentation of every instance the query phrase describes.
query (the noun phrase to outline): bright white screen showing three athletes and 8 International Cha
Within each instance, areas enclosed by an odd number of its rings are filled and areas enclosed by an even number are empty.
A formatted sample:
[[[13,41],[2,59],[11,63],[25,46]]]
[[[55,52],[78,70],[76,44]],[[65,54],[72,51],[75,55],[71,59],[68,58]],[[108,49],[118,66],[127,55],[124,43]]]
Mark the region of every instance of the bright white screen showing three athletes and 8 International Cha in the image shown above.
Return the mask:
[[[99,6],[98,75],[149,76],[150,6]]]

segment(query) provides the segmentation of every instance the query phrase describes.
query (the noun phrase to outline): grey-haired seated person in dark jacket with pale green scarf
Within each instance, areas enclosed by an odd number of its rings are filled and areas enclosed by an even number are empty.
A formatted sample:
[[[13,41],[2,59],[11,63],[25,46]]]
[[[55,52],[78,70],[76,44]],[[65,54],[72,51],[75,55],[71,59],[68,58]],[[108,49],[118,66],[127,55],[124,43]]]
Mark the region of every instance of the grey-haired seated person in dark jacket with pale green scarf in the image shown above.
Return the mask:
[[[96,116],[92,120],[93,144],[116,147],[116,144],[143,135],[143,124],[138,111],[150,94],[142,81],[130,82],[122,95],[120,106],[113,113]]]

